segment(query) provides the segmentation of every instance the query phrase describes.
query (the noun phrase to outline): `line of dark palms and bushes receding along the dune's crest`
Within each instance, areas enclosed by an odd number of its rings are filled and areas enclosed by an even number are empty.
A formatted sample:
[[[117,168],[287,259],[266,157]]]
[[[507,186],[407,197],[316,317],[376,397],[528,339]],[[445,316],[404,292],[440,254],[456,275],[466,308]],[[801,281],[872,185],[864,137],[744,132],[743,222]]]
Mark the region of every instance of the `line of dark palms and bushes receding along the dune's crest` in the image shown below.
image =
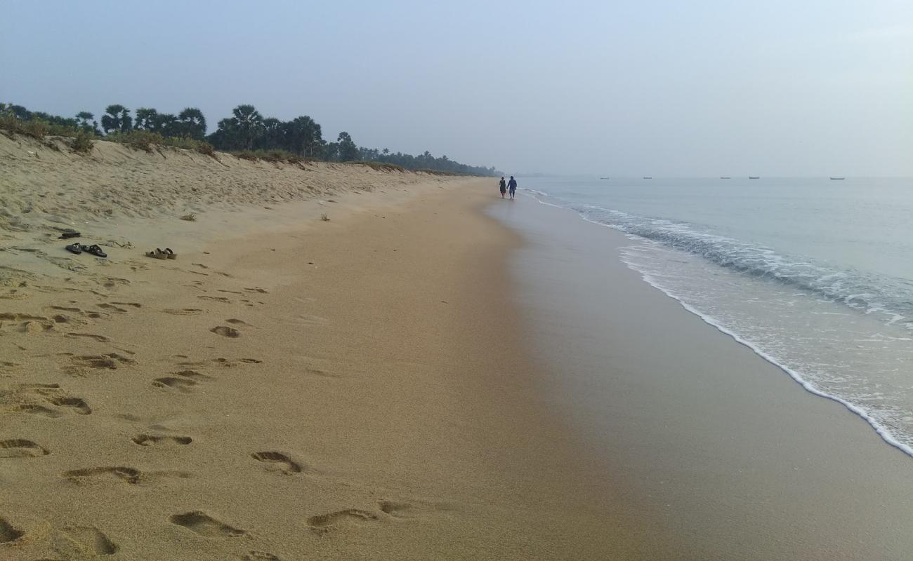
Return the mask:
[[[0,113],[16,119],[38,120],[55,125],[57,130],[80,131],[99,138],[117,138],[133,131],[161,135],[164,139],[190,139],[208,142],[215,150],[228,152],[286,151],[301,158],[320,161],[378,161],[409,170],[434,170],[470,175],[502,174],[494,167],[471,166],[448,159],[436,158],[429,151],[414,156],[364,148],[355,144],[345,131],[335,141],[324,140],[323,132],[307,115],[283,121],[263,115],[253,105],[239,105],[230,117],[218,121],[215,131],[206,134],[203,111],[188,107],[177,114],[160,113],[157,109],[141,107],[132,111],[120,104],[109,105],[99,120],[90,111],[80,111],[74,118],[30,111],[21,105],[0,103]]]

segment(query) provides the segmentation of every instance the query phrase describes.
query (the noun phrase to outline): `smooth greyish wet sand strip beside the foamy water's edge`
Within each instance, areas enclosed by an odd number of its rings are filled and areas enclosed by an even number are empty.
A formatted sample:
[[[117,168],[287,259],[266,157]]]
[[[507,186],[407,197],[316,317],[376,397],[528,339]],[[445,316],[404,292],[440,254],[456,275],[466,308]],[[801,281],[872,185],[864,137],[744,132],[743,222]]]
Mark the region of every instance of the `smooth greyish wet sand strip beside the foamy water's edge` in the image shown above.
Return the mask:
[[[548,410],[644,516],[630,558],[913,556],[913,459],[647,285],[618,259],[624,235],[498,203],[527,241],[512,295]]]

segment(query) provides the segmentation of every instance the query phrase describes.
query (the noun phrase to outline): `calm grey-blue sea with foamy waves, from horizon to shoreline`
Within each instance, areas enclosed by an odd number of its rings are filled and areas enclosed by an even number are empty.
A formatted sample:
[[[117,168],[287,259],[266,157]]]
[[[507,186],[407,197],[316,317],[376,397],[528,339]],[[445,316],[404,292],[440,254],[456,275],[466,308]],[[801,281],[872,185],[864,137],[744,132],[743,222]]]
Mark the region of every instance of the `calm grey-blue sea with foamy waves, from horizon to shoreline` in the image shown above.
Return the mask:
[[[519,183],[627,234],[646,282],[913,456],[913,179]]]

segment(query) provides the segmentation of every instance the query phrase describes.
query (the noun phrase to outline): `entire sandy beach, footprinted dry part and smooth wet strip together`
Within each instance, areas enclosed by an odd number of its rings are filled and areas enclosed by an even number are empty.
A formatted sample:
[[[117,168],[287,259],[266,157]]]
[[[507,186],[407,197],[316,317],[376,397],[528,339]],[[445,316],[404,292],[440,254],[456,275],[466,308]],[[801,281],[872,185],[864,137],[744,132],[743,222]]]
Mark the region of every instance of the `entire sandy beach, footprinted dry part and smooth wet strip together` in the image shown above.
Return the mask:
[[[492,178],[100,144],[0,138],[0,559],[913,551],[909,457],[624,235]]]

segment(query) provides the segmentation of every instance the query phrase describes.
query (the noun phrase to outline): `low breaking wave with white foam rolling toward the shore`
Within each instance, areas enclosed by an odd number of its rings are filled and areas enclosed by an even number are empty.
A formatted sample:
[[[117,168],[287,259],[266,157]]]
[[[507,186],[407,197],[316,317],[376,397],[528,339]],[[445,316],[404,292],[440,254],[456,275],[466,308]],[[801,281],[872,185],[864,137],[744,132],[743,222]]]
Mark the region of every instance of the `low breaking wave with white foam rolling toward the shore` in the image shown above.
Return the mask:
[[[589,222],[600,223],[658,244],[699,255],[715,265],[743,275],[767,279],[813,293],[821,298],[864,311],[880,314],[889,324],[913,329],[913,282],[887,275],[874,275],[829,264],[814,263],[799,256],[782,255],[759,244],[713,234],[698,224],[665,218],[637,216],[593,204],[562,201],[547,192],[527,189],[580,213]],[[541,200],[542,203],[550,203]]]

